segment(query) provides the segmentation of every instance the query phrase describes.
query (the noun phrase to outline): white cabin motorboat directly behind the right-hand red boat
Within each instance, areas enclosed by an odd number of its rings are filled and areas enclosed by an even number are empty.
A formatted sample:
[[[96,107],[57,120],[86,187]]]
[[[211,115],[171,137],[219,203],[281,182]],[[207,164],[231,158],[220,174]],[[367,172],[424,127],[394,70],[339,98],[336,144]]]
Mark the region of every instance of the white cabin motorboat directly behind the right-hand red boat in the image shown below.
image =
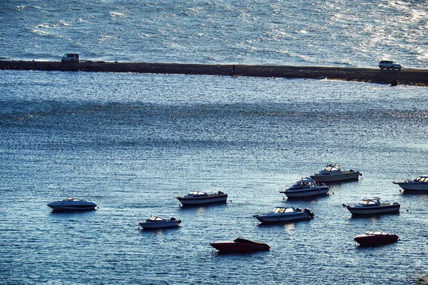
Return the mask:
[[[380,202],[379,197],[364,198],[358,204],[350,206],[347,204],[342,204],[343,207],[346,207],[352,215],[357,214],[392,214],[399,212],[399,204],[394,203],[382,203]]]

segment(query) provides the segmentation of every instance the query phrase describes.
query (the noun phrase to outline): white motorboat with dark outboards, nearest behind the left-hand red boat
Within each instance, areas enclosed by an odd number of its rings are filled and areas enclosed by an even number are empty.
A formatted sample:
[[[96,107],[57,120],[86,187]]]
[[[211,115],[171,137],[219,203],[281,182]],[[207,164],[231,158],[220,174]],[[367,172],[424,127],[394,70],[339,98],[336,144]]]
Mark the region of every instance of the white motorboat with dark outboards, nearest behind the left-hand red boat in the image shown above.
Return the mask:
[[[262,223],[275,223],[275,222],[292,222],[302,219],[310,219],[314,217],[314,213],[310,209],[302,209],[294,207],[275,207],[272,211],[265,214],[255,214],[253,217]]]

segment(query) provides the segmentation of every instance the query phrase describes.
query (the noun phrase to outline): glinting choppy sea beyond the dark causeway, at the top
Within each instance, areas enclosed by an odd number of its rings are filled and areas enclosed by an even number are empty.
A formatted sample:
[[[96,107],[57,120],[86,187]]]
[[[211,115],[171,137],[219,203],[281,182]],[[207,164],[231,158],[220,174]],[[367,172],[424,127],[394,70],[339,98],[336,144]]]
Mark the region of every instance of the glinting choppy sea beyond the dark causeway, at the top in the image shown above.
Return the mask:
[[[427,68],[427,1],[0,1],[0,58]]]

